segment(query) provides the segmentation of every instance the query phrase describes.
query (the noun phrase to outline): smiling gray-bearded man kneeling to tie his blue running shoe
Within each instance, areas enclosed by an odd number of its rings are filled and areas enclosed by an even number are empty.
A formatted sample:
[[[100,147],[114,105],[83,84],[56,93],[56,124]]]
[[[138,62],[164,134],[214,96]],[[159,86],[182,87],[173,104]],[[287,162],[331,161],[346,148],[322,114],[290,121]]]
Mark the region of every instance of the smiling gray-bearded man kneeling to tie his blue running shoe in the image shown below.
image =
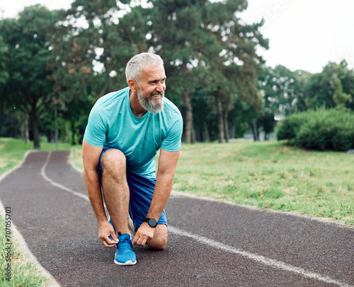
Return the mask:
[[[132,244],[147,244],[156,250],[166,247],[164,206],[181,149],[183,121],[177,107],[164,98],[166,75],[161,57],[137,54],[127,63],[125,75],[127,88],[108,93],[93,106],[82,156],[99,238],[105,247],[117,247],[115,264],[132,265],[136,263]],[[130,218],[134,240],[128,228]]]

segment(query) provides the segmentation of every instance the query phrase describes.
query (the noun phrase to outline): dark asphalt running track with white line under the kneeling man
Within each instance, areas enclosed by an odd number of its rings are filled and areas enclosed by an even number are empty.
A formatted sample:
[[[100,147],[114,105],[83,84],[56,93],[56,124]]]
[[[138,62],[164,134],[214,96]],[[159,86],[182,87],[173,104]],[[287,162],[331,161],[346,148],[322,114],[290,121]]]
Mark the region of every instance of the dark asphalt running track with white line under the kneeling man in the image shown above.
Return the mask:
[[[354,286],[354,230],[311,218],[171,195],[169,245],[113,263],[69,151],[29,153],[0,199],[61,286]],[[15,274],[16,276],[16,274]]]

